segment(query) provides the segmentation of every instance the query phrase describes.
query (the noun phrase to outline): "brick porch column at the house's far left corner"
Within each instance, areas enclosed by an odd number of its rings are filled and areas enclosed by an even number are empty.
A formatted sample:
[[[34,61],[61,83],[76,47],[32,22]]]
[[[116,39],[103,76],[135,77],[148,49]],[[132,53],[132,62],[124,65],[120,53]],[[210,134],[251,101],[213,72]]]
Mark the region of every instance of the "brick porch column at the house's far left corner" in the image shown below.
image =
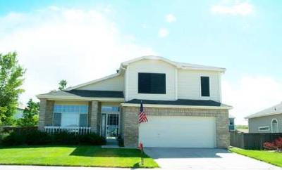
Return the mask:
[[[38,129],[44,129],[44,126],[53,124],[54,100],[40,99],[39,104],[39,122]]]

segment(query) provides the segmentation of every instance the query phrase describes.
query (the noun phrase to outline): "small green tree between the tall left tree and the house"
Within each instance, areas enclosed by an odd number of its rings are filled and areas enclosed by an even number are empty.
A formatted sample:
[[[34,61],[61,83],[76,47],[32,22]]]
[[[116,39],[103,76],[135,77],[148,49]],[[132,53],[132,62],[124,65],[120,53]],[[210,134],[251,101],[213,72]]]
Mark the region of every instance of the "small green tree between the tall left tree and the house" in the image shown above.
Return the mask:
[[[18,120],[19,126],[36,126],[38,124],[39,102],[30,99],[23,110],[23,118]]]

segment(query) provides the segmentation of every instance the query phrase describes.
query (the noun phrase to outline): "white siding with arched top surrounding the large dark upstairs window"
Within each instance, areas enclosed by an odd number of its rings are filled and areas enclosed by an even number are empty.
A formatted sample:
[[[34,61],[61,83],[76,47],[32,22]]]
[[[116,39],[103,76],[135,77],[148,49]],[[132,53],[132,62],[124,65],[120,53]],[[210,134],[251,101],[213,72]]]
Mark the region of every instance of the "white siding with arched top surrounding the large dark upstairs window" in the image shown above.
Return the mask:
[[[160,60],[140,60],[131,63],[128,68],[127,88],[125,100],[150,99],[150,100],[175,100],[175,67]],[[166,74],[166,94],[138,93],[138,73]]]

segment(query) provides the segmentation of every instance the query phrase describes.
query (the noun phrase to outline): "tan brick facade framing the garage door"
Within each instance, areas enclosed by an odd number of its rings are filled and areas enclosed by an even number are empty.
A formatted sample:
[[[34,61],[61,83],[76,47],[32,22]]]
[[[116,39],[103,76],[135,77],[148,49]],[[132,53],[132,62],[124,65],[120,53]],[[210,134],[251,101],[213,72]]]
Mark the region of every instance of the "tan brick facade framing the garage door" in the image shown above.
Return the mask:
[[[138,145],[139,107],[123,107],[121,111],[121,136],[126,147],[136,148]],[[145,107],[147,115],[157,116],[194,116],[216,118],[216,147],[228,148],[228,110],[186,109],[186,108],[156,108]]]

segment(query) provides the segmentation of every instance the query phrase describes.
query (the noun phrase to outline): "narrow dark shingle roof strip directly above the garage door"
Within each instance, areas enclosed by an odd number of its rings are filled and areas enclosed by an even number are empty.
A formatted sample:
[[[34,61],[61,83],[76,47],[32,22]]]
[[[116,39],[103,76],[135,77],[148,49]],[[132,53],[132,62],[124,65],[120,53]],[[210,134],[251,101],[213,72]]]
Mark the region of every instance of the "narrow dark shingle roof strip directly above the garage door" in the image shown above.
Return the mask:
[[[140,99],[129,100],[125,103],[140,104]],[[195,106],[221,106],[221,107],[231,107],[230,105],[225,105],[214,100],[142,100],[143,104],[152,105],[195,105]]]

